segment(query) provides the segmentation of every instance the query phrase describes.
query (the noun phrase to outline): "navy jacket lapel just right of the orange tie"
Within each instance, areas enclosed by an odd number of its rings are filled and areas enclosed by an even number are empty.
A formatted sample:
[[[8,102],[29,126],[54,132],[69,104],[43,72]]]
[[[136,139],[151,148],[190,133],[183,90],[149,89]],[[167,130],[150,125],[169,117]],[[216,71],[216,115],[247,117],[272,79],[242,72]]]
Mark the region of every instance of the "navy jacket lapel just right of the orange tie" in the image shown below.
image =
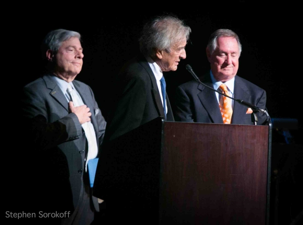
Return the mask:
[[[240,99],[245,102],[250,102],[250,95],[248,94],[248,90],[245,86],[245,83],[241,82],[241,80],[239,80],[237,76],[235,76],[234,99]],[[244,124],[243,115],[246,114],[246,110],[247,107],[241,105],[237,101],[234,101],[231,123]]]

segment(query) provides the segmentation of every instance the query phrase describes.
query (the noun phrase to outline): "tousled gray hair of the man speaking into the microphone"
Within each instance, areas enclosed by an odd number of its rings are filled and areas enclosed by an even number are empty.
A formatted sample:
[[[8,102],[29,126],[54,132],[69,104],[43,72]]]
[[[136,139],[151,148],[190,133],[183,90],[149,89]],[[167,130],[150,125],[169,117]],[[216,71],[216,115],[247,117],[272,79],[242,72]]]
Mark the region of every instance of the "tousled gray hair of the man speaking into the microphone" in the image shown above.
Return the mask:
[[[143,27],[139,38],[140,52],[145,56],[154,56],[155,49],[170,52],[171,47],[182,39],[188,41],[190,32],[190,27],[175,16],[157,16]]]

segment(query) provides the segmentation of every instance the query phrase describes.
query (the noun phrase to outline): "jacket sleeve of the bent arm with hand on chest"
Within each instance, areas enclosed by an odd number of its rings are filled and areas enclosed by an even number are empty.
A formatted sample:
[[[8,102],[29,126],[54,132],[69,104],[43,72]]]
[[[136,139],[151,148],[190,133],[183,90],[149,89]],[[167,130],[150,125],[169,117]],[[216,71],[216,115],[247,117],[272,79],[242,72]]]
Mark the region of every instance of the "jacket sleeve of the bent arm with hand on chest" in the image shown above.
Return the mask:
[[[51,103],[44,93],[24,88],[21,98],[22,133],[25,144],[45,150],[61,143],[78,139],[82,126],[74,113],[66,112],[62,118],[50,121]],[[54,113],[53,113],[54,114]]]

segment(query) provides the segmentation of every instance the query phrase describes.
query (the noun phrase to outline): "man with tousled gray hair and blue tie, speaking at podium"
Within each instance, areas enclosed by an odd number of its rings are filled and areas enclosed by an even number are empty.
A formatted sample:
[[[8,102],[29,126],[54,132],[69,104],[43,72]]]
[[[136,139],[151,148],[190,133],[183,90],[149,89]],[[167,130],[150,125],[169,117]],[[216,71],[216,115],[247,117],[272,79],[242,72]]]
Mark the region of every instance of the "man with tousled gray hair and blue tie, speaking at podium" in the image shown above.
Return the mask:
[[[159,116],[174,121],[161,79],[164,72],[177,70],[180,60],[186,58],[190,32],[190,27],[175,16],[158,16],[145,24],[139,39],[141,53],[128,61],[117,76],[118,93],[109,113],[105,141]]]

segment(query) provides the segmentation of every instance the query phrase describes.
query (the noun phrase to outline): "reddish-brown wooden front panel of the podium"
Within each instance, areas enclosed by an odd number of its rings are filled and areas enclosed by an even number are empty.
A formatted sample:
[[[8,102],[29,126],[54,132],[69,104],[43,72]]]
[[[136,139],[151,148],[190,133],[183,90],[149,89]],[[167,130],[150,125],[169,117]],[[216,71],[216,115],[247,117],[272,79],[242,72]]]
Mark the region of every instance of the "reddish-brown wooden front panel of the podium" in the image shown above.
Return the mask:
[[[164,123],[160,224],[266,224],[269,127]]]

